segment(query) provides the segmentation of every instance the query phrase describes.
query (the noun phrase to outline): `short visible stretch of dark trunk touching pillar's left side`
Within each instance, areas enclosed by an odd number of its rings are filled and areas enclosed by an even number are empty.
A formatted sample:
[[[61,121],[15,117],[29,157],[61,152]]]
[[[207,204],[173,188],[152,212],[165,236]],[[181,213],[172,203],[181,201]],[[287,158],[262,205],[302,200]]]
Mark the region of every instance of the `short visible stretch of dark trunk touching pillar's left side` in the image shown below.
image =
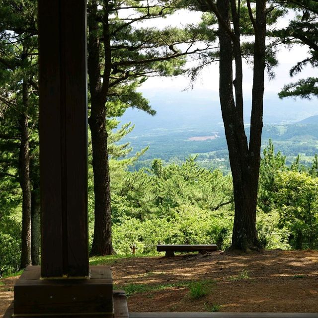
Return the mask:
[[[39,189],[31,191],[31,261],[32,265],[40,265],[40,241],[41,241],[41,220],[40,220],[40,197]]]

